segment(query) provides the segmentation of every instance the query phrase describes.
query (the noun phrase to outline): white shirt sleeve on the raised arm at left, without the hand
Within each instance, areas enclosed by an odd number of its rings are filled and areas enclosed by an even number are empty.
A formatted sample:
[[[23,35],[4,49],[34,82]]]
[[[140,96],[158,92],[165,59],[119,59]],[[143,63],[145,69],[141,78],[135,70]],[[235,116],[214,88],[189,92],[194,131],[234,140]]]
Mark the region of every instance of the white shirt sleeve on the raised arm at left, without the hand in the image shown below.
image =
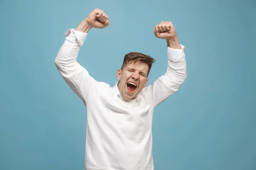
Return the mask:
[[[98,93],[99,82],[77,62],[79,50],[87,33],[69,29],[55,58],[55,65],[69,87],[85,102]]]

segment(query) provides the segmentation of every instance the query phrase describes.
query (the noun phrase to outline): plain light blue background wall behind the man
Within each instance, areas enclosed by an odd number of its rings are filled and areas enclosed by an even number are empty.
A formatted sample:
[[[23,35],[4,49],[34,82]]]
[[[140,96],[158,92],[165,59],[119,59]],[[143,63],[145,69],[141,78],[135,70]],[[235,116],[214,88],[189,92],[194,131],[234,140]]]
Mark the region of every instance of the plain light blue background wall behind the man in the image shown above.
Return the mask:
[[[94,8],[110,26],[89,31],[78,61],[99,81],[114,85],[130,51],[157,59],[149,84],[164,74],[162,20],[187,47],[188,78],[154,111],[155,169],[255,170],[255,0],[2,0],[0,169],[84,168],[86,108],[54,59]]]

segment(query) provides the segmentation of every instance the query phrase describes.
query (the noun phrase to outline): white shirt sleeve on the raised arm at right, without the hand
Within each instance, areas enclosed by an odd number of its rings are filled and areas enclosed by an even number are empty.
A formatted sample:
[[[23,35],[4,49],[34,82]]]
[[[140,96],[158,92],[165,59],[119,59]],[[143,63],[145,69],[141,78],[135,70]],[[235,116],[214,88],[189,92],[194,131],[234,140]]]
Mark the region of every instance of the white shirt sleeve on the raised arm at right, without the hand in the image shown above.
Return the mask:
[[[185,81],[186,74],[186,47],[180,44],[181,49],[167,47],[168,65],[166,73],[146,88],[149,101],[153,108],[174,94]]]

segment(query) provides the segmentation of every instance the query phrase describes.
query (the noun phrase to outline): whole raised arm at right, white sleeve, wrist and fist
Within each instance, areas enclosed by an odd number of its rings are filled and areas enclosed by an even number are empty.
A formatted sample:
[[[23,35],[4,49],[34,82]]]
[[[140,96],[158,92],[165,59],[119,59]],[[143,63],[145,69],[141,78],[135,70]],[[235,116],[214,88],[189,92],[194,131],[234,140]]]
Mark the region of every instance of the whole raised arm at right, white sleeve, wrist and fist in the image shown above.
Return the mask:
[[[174,94],[187,77],[184,54],[186,47],[180,45],[172,22],[157,24],[154,34],[167,41],[168,65],[166,73],[146,88],[153,108]]]

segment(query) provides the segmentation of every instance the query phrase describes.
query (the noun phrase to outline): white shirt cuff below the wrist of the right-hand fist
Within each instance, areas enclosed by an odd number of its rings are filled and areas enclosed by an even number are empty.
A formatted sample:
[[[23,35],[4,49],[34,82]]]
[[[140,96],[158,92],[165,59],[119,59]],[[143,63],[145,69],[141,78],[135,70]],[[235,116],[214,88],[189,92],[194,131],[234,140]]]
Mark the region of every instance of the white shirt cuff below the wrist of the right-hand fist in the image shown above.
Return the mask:
[[[181,49],[174,49],[167,46],[167,56],[173,62],[178,62],[180,59],[185,57],[184,51],[186,47],[180,44]]]

